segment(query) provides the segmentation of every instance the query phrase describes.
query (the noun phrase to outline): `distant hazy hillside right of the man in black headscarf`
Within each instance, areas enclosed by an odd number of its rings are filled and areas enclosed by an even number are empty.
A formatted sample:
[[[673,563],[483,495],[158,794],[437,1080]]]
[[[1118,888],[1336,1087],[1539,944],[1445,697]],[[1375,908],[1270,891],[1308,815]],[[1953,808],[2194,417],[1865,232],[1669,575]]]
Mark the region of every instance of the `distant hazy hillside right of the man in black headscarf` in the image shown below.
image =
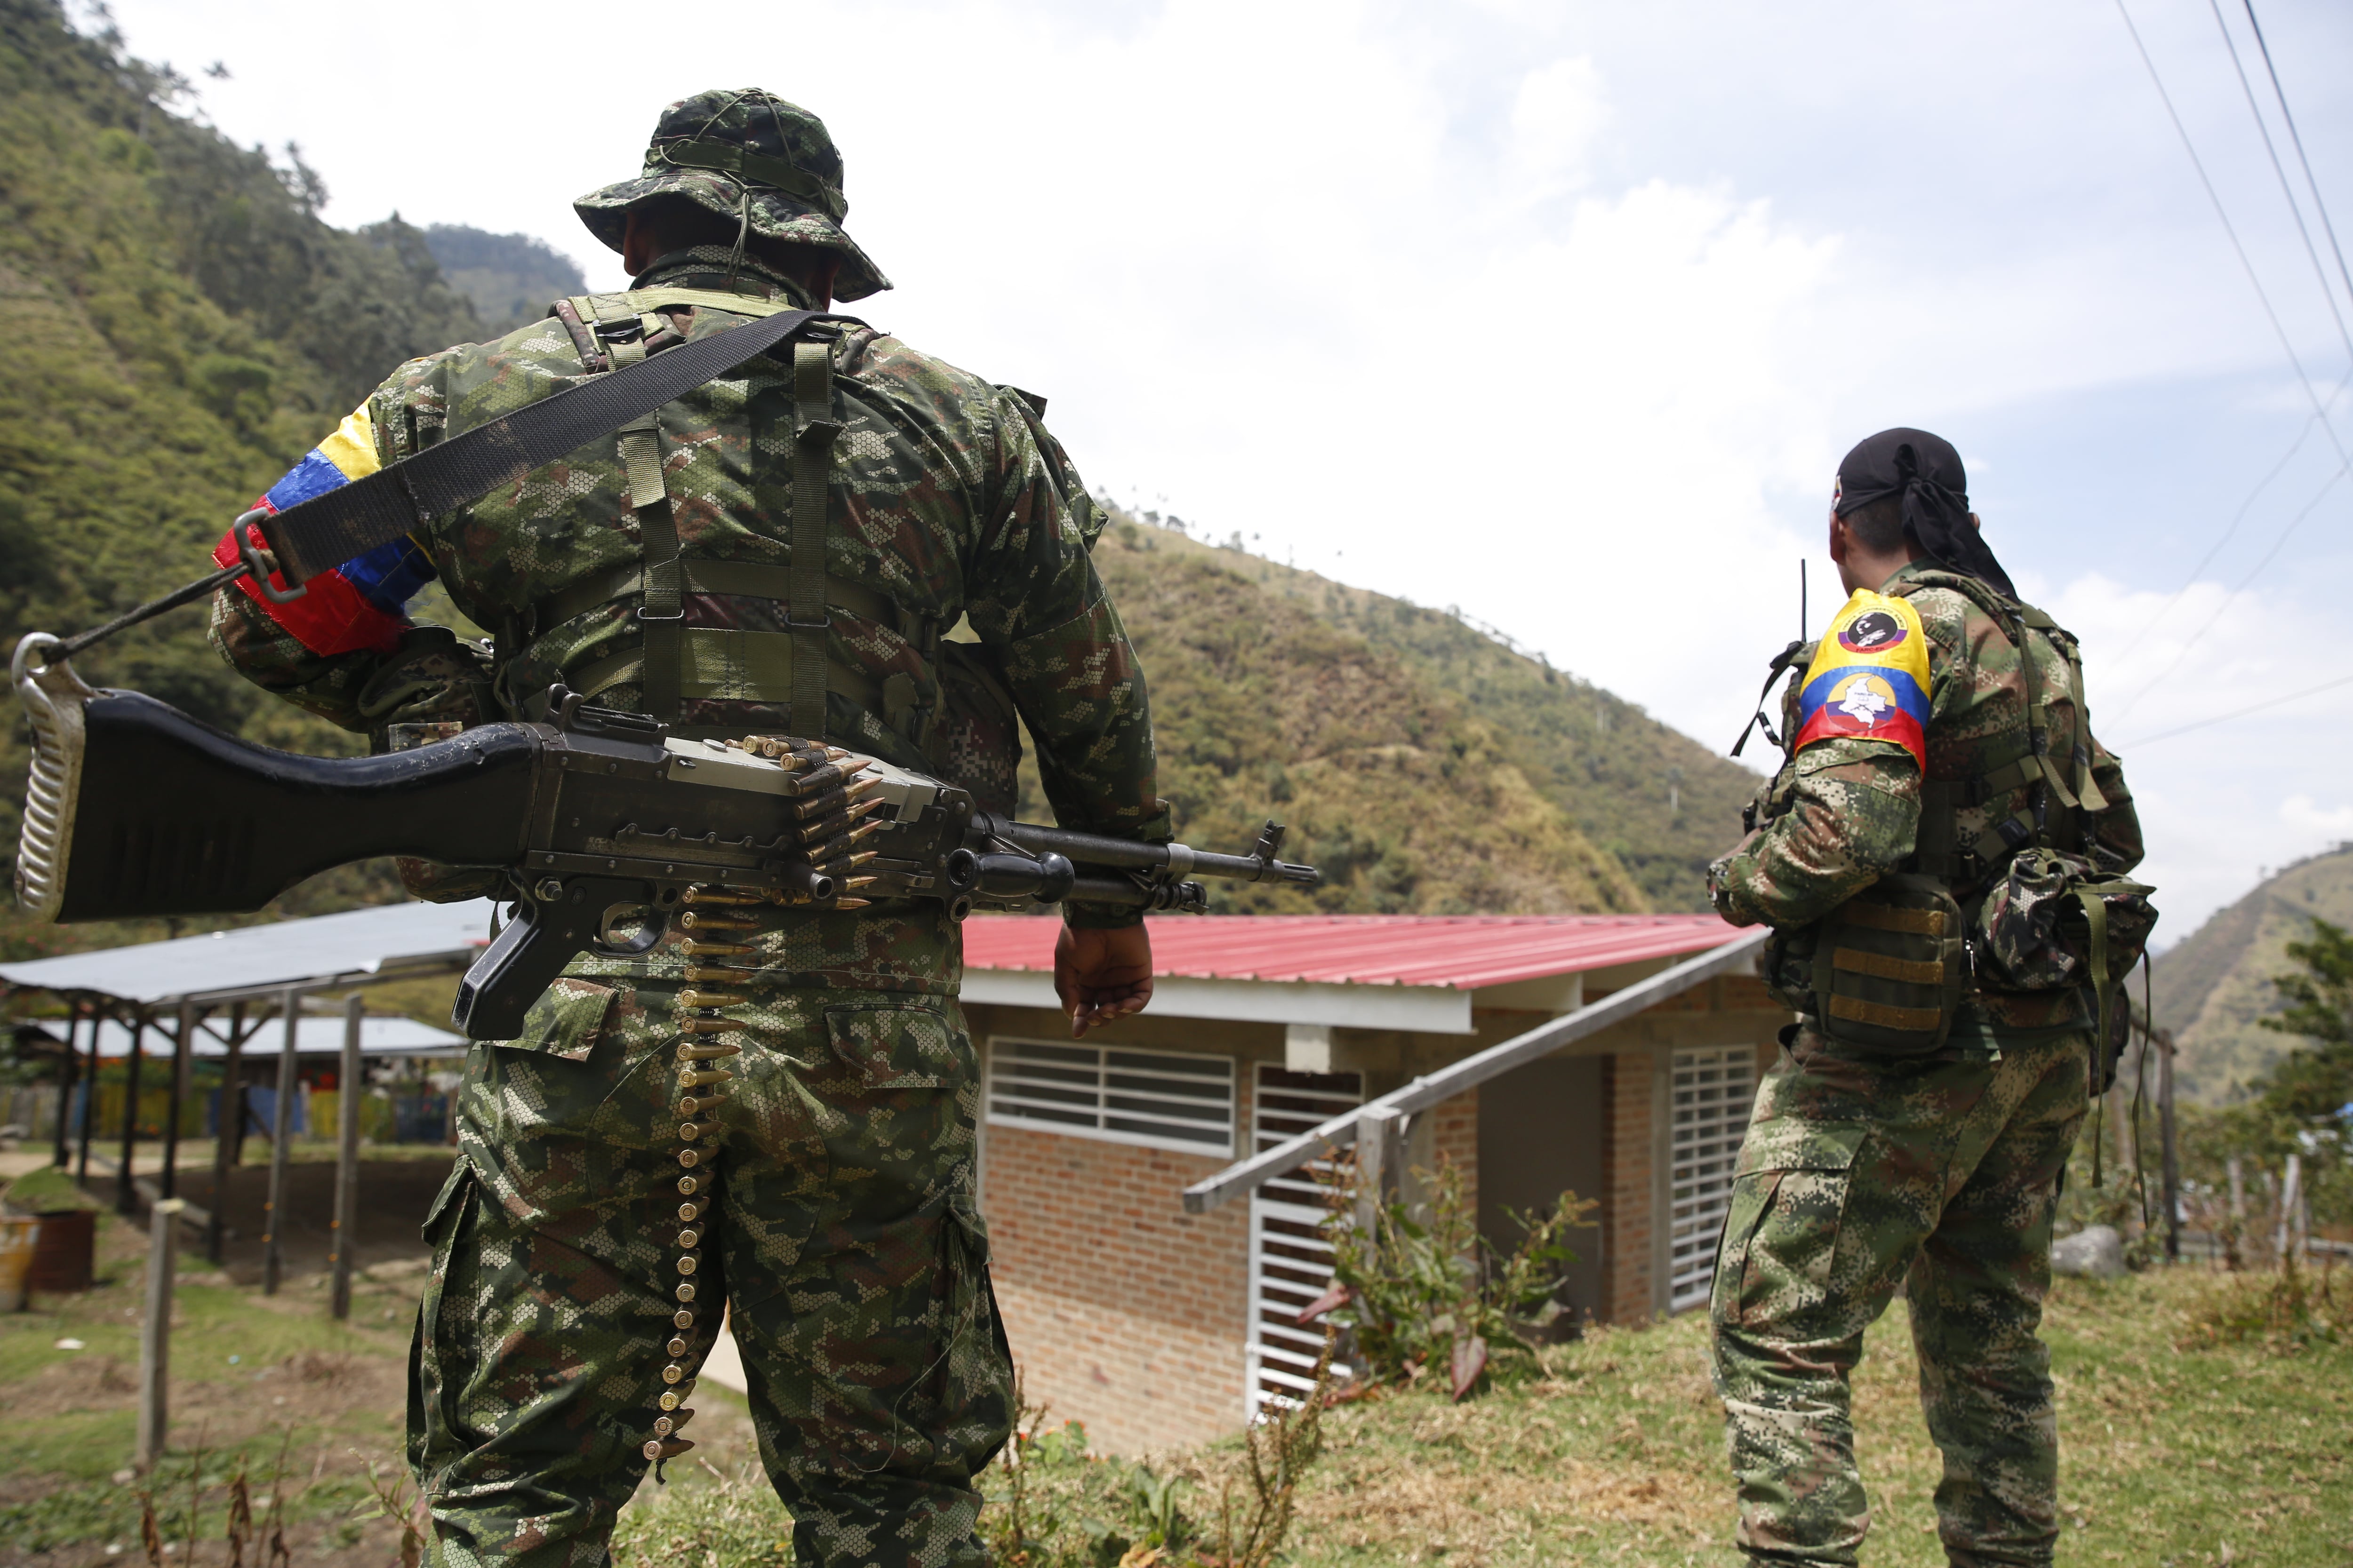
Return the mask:
[[[2151,964],[2158,1027],[2179,1044],[2181,1093],[2221,1105],[2294,1048],[2294,1037],[2257,1025],[2280,1011],[2271,978],[2292,969],[2287,943],[2313,917],[2353,926],[2353,846],[2299,860],[2207,917]]]

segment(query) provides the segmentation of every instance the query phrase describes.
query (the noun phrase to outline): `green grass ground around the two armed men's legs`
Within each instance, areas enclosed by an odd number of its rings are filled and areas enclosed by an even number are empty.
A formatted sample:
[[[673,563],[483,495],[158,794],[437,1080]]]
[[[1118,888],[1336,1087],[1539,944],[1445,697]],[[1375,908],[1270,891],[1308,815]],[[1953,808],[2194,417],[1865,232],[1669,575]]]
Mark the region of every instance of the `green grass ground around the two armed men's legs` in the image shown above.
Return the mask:
[[[129,1465],[144,1234],[106,1218],[101,1276],[0,1319],[0,1566],[139,1561]],[[195,1265],[198,1269],[202,1265]],[[358,1328],[325,1314],[325,1291],[280,1298],[184,1274],[174,1331],[174,1458],[158,1507],[179,1535],[191,1448],[202,1436],[200,1544],[221,1563],[228,1469],[289,1497],[301,1563],[393,1563],[398,1535],[355,1516],[365,1462],[398,1465],[414,1276],[362,1281]],[[2268,1276],[2186,1267],[2113,1284],[2061,1281],[2049,1309],[2064,1441],[2061,1563],[2353,1568],[2353,1279],[2337,1279],[2337,1342],[2233,1340]],[[386,1319],[386,1312],[393,1316]],[[82,1349],[61,1352],[56,1340]],[[1868,1561],[1944,1561],[1929,1493],[1937,1458],[1920,1427],[1904,1307],[1873,1333],[1859,1375],[1859,1434],[1875,1528]],[[624,1509],[624,1568],[791,1561],[791,1523],[758,1472],[744,1403],[704,1385],[699,1448]],[[1054,1425],[1052,1420],[1047,1422]],[[289,1476],[273,1483],[285,1434]],[[1031,1469],[1028,1568],[1155,1563],[1151,1493],[1214,1530],[1240,1446],[1139,1465],[1049,1439]],[[1005,1526],[1005,1472],[984,1533]],[[1165,1519],[1165,1514],[1162,1514]],[[1548,1349],[1539,1368],[1454,1406],[1393,1394],[1339,1406],[1299,1495],[1287,1561],[1339,1563],[1729,1563],[1732,1497],[1720,1415],[1706,1385],[1706,1324],[1602,1331]],[[108,1547],[115,1547],[108,1554]]]

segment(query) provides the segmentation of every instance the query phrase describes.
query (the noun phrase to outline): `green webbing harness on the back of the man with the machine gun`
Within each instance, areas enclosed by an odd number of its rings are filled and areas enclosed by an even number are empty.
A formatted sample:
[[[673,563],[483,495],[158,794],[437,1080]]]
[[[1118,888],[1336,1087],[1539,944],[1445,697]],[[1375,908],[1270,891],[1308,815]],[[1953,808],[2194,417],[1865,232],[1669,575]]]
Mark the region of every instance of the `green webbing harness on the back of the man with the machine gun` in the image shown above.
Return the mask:
[[[562,299],[555,303],[555,317],[572,336],[581,369],[593,376],[626,369],[649,353],[685,341],[664,315],[680,308],[765,317],[793,306],[755,294],[654,287]],[[607,604],[635,599],[631,616],[640,630],[638,644],[567,670],[567,686],[595,701],[612,686],[635,682],[647,715],[689,738],[701,731],[692,724],[680,726],[687,701],[732,701],[784,708],[791,733],[824,741],[831,693],[854,710],[880,715],[920,755],[925,722],[915,708],[927,682],[906,672],[875,679],[833,658],[828,635],[835,614],[887,625],[913,644],[929,672],[939,661],[939,628],[929,616],[904,611],[887,595],[828,576],[826,512],[833,449],[842,435],[833,393],[833,343],[795,339],[791,350],[788,564],[685,557],[661,461],[659,423],[654,414],[645,414],[616,435],[642,559],[591,574],[536,602],[525,616],[522,635],[534,637]],[[687,595],[765,599],[784,630],[689,625]],[[713,733],[739,729],[741,722],[732,722]],[[840,729],[833,726],[835,733]],[[859,738],[868,745],[878,741],[878,736]]]

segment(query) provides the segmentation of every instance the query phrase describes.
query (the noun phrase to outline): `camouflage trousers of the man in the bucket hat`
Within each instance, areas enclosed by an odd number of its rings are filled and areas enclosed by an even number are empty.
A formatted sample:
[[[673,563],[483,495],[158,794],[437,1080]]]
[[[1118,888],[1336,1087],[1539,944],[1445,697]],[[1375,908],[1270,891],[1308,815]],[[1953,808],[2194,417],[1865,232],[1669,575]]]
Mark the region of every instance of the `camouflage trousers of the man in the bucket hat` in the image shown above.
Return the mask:
[[[466,1063],[409,1356],[433,1563],[607,1563],[619,1507],[689,1446],[722,1305],[795,1561],[988,1561],[972,1479],[1012,1432],[1012,1359],[962,1016],[711,990],[558,980]]]

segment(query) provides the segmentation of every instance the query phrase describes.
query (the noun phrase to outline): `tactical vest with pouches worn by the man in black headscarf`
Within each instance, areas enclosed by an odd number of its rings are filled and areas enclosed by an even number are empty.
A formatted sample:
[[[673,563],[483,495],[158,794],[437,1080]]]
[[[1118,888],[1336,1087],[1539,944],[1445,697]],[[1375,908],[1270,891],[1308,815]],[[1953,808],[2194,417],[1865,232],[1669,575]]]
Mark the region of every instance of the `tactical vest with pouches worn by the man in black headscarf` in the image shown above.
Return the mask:
[[[1814,1016],[1833,1039],[1887,1056],[1944,1048],[1960,1004],[1988,987],[2035,992],[2092,985],[2106,1027],[2118,959],[2129,969],[2155,914],[2146,905],[2146,886],[2101,877],[2082,858],[2094,835],[2092,818],[2108,802],[2092,780],[2092,724],[2075,637],[2040,609],[1972,576],[1922,571],[1885,592],[1911,597],[1925,588],[1967,597],[2019,649],[2026,712],[2012,731],[1986,743],[1984,771],[1922,778],[1913,856],[1819,922],[1777,933],[1765,957],[1767,980],[1793,1011]],[[1812,651],[1814,644],[1786,649],[1774,670],[1805,670]],[[2049,661],[2066,665],[2066,691],[2075,708],[2075,736],[2066,757],[2052,750]],[[1767,686],[1774,677],[1767,677]],[[1795,682],[1784,703],[1788,759],[1758,802],[1765,820],[1788,811],[1795,795],[1793,705]],[[2017,811],[1977,830],[1965,823],[1965,813],[2017,790],[2031,790]],[[2042,926],[2026,945],[2075,943],[2085,950],[2080,961],[2068,961],[2064,952],[2014,952],[2012,964],[1988,961],[1988,907],[2007,919],[2019,905],[2014,882],[2040,889],[2035,919]],[[2085,896],[2080,889],[2092,884],[2104,886],[2097,896]],[[2061,903],[2085,912],[2080,938],[2061,938],[2057,931]],[[2120,910],[2115,943],[2111,905]],[[1993,945],[2007,952],[2021,943],[2014,933],[2002,933]]]

